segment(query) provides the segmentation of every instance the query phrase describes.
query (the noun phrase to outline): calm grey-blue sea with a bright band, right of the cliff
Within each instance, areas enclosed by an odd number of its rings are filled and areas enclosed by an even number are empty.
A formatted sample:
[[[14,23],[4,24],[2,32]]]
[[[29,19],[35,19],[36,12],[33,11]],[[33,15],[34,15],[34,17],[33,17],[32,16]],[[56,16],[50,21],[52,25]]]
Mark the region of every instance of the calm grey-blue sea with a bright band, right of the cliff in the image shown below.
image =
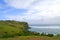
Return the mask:
[[[30,31],[44,32],[50,34],[60,34],[60,26],[30,26]]]

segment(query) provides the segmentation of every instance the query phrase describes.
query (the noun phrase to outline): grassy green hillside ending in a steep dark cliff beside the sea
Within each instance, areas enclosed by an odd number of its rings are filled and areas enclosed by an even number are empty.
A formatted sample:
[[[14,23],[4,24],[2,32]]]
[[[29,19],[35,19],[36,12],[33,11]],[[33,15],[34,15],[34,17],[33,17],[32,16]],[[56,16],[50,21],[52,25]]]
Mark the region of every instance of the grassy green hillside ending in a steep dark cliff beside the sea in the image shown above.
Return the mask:
[[[18,21],[0,21],[0,37],[13,37],[24,35],[28,31],[28,24],[26,22]]]

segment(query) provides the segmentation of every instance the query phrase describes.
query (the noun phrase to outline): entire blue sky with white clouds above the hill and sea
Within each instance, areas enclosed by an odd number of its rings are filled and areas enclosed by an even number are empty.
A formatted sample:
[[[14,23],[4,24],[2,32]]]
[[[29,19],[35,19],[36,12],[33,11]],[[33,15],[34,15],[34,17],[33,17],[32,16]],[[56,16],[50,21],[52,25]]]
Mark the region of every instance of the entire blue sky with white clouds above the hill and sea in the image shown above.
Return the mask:
[[[0,20],[60,24],[60,0],[0,0]]]

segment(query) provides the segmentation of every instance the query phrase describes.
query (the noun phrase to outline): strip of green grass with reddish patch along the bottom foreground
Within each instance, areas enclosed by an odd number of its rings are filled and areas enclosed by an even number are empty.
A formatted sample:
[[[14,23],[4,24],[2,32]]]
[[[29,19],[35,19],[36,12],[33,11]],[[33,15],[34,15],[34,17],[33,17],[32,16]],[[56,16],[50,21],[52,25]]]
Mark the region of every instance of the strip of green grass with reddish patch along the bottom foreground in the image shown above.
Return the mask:
[[[14,37],[14,38],[0,38],[0,40],[60,40],[60,37],[19,36],[19,37]]]

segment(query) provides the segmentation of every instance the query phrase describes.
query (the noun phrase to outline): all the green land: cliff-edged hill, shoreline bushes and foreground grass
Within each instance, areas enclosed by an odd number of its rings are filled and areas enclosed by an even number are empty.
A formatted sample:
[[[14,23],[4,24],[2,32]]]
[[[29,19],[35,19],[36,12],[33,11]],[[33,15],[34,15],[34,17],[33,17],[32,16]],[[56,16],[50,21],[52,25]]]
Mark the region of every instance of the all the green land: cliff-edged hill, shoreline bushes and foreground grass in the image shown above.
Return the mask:
[[[0,20],[0,40],[60,40],[60,34],[37,33],[28,30],[27,22]]]

